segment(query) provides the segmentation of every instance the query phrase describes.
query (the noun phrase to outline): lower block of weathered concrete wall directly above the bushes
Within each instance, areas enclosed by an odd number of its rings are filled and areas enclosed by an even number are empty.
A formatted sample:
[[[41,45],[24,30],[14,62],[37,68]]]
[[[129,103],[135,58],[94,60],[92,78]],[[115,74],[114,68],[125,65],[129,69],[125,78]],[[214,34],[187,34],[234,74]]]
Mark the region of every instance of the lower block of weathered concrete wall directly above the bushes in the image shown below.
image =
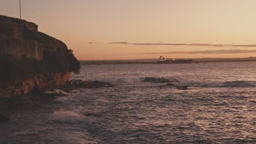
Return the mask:
[[[13,55],[15,58],[43,59],[43,44],[34,40],[1,38],[0,54]]]

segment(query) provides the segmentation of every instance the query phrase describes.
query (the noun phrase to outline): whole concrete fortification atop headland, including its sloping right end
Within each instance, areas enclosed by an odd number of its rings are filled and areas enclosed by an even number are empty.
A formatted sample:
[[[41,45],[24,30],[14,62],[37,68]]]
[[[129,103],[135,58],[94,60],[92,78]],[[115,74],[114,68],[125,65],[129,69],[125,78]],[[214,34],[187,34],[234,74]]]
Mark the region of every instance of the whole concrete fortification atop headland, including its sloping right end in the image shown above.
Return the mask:
[[[19,40],[18,40],[19,39]],[[44,51],[64,56],[67,45],[61,40],[38,32],[33,22],[0,15],[0,54],[42,59]]]

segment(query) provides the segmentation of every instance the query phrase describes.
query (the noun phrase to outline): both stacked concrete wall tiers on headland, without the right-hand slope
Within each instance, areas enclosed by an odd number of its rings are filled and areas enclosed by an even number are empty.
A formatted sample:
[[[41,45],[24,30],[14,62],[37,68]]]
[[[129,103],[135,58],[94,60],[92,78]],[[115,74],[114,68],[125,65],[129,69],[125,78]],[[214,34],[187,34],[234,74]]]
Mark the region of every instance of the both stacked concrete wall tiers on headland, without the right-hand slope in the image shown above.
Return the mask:
[[[35,23],[0,15],[0,55],[42,60],[44,45],[34,33]]]

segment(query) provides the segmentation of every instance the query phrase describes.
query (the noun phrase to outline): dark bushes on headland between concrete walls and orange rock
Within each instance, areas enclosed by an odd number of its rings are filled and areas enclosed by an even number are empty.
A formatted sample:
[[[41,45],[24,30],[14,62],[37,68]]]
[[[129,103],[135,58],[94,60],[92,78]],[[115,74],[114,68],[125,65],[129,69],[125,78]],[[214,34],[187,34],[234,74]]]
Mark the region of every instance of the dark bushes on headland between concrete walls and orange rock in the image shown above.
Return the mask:
[[[74,57],[73,53],[67,52],[65,56],[56,53],[43,53],[43,60],[16,59],[11,55],[1,55],[0,65],[0,85],[13,85],[24,79],[32,78],[36,75],[51,75],[60,71],[73,71],[79,73],[80,62]]]

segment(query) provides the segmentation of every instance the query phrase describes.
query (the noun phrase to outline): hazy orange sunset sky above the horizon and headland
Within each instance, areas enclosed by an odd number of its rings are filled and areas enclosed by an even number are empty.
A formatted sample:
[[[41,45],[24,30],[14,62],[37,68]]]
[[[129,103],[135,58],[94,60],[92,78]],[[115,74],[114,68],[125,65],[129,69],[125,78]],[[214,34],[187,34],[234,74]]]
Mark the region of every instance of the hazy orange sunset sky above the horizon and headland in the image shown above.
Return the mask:
[[[256,56],[255,0],[21,0],[80,60]],[[19,17],[18,0],[0,15]]]

